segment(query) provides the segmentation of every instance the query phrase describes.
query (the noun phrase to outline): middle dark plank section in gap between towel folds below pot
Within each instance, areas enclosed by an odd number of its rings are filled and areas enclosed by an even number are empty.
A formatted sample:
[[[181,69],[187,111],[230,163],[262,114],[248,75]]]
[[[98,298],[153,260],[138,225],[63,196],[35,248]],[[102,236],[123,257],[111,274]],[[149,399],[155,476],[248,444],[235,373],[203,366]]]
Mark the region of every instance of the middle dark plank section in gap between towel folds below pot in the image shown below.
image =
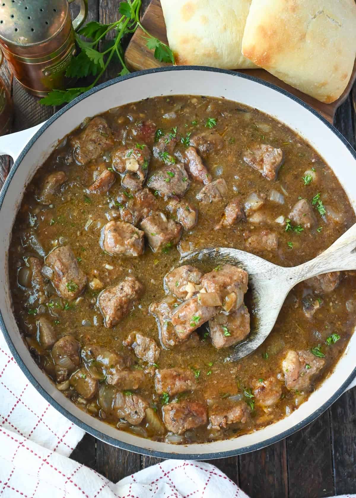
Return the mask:
[[[95,457],[97,472],[114,483],[141,470],[141,455],[115,448],[103,441],[97,440]]]

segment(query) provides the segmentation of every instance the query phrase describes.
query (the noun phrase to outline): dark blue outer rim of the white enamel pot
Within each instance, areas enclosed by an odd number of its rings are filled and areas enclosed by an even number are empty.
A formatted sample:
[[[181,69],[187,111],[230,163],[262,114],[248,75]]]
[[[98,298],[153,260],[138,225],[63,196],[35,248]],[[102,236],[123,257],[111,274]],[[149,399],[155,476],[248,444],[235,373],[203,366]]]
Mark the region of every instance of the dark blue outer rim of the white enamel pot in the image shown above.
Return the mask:
[[[205,66],[174,66],[174,67],[163,67],[163,68],[157,68],[157,69],[147,69],[144,71],[138,71],[136,73],[131,73],[127,74],[125,76],[120,76],[118,78],[114,78],[113,80],[107,81],[105,83],[102,83],[101,85],[98,85],[97,87],[89,90],[88,92],[84,93],[83,95],[80,95],[79,97],[76,97],[72,102],[67,104],[65,107],[63,107],[60,111],[56,112],[52,117],[50,117],[44,124],[41,126],[41,128],[33,135],[33,137],[28,141],[27,145],[24,147],[18,158],[16,159],[14,165],[12,166],[5,183],[2,187],[2,190],[0,192],[0,211],[2,208],[3,200],[6,195],[8,186],[10,184],[11,179],[13,178],[13,175],[19,165],[21,164],[22,159],[28,152],[28,150],[32,147],[32,145],[35,143],[37,138],[43,133],[45,129],[48,128],[52,123],[54,123],[62,114],[64,114],[68,109],[71,109],[73,106],[75,106],[78,102],[81,102],[82,100],[86,99],[90,95],[99,92],[103,88],[107,88],[111,85],[115,85],[116,83],[119,83],[121,81],[125,81],[131,78],[136,78],[137,76],[142,76],[145,74],[152,74],[152,73],[161,73],[161,72],[166,72],[166,71],[186,71],[186,70],[194,70],[194,71],[205,71],[205,72],[213,72],[213,73],[223,73],[223,74],[229,74],[231,76],[234,76],[236,78],[243,78],[246,80],[253,81],[255,83],[259,83],[260,85],[263,85],[265,87],[271,88],[272,90],[275,90],[276,92],[288,97],[289,99],[292,99],[294,102],[297,102],[299,105],[307,109],[310,113],[312,113],[314,116],[316,116],[322,123],[324,123],[343,143],[344,145],[348,148],[350,153],[354,156],[355,161],[356,161],[356,151],[354,148],[351,146],[351,144],[346,140],[346,138],[332,125],[330,124],[325,118],[323,118],[317,111],[315,111],[313,108],[311,108],[308,104],[300,100],[298,97],[295,97],[294,95],[290,94],[289,92],[272,85],[271,83],[268,83],[266,81],[260,80],[259,78],[255,78],[254,76],[249,76],[247,74],[243,73],[237,73],[234,71],[228,71],[225,69],[216,69],[212,67],[205,67]],[[152,456],[152,457],[158,457],[158,458],[174,458],[174,459],[189,459],[189,460],[211,460],[215,458],[225,458],[225,457],[232,457],[236,455],[241,455],[243,453],[249,453],[251,451],[256,451],[260,450],[261,448],[264,448],[266,446],[269,446],[273,443],[276,443],[280,441],[281,439],[284,439],[291,434],[294,434],[298,430],[302,429],[306,425],[310,424],[313,422],[316,418],[318,418],[325,410],[327,410],[338,398],[343,394],[345,389],[350,385],[351,381],[354,379],[356,376],[356,368],[354,369],[353,373],[348,377],[348,379],[339,387],[339,389],[335,392],[335,394],[328,399],[322,406],[320,406],[317,410],[315,410],[311,415],[306,417],[304,420],[299,422],[298,424],[294,425],[290,429],[281,432],[277,436],[274,436],[272,438],[269,438],[265,441],[262,441],[260,443],[252,444],[249,446],[245,446],[244,448],[239,448],[236,450],[230,450],[230,451],[220,451],[220,452],[214,452],[214,453],[203,453],[203,454],[180,454],[180,453],[167,453],[164,451],[156,451],[156,450],[149,450],[147,448],[142,448],[140,446],[136,446],[133,444],[128,444],[124,443],[122,441],[118,441],[115,438],[112,438],[110,436],[107,436],[106,434],[94,429],[93,427],[87,425],[85,422],[82,422],[79,420],[76,416],[72,415],[69,413],[65,408],[63,408],[62,405],[60,405],[57,401],[55,401],[48,393],[45,391],[45,389],[38,383],[38,381],[33,377],[33,375],[29,372],[25,364],[23,363],[22,359],[20,358],[19,354],[17,353],[16,348],[14,347],[11,338],[7,332],[7,329],[5,327],[5,323],[2,318],[2,313],[0,311],[0,329],[1,332],[4,335],[4,338],[6,340],[6,343],[13,355],[14,360],[16,361],[17,365],[20,367],[22,372],[25,374],[25,376],[28,378],[28,380],[31,382],[31,384],[36,388],[36,390],[43,396],[46,401],[48,401],[56,410],[58,410],[62,415],[64,415],[67,419],[69,419],[71,422],[73,422],[75,425],[83,429],[84,431],[88,432],[92,436],[96,437],[97,439],[100,439],[104,441],[105,443],[108,443],[112,446],[116,446],[118,448],[132,451],[134,453],[140,453],[142,455],[147,455],[147,456]],[[222,444],[222,442],[221,442]]]

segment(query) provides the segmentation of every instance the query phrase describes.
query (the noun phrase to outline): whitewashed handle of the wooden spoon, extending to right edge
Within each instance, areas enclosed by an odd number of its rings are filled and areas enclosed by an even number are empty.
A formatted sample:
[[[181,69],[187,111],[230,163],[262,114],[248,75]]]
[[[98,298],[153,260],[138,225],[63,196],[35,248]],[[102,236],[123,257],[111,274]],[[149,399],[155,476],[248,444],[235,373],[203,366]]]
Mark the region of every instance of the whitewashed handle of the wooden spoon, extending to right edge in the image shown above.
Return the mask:
[[[291,268],[293,285],[329,271],[356,269],[356,224],[334,242],[330,248],[304,264]],[[294,271],[293,271],[294,270]]]

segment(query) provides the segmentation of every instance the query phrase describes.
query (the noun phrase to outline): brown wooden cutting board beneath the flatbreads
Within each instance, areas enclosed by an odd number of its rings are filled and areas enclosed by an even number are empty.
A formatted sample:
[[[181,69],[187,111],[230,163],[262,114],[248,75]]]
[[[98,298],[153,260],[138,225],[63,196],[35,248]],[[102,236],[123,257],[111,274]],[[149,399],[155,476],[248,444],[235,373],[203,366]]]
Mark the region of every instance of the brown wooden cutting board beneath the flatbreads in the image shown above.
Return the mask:
[[[152,0],[150,5],[147,7],[146,12],[142,18],[143,26],[151,33],[153,36],[168,44],[167,33],[166,33],[166,24],[165,19],[163,17],[163,11],[161,7],[160,0]],[[142,69],[151,69],[155,67],[163,67],[169,66],[170,64],[165,64],[164,62],[159,62],[155,59],[153,55],[153,51],[149,50],[146,47],[146,37],[147,35],[142,31],[142,29],[138,28],[134,36],[132,37],[125,53],[125,61],[126,65],[131,71],[141,71]],[[295,88],[287,85],[283,81],[279,80],[272,74],[268,73],[264,69],[241,69],[238,72],[250,74],[256,78],[260,78],[261,80],[268,81],[269,83],[273,83],[284,90],[287,90],[291,94],[299,97],[306,104],[309,104],[316,111],[318,111],[324,118],[326,118],[330,123],[333,123],[334,116],[338,107],[345,101],[348,97],[352,86],[356,79],[356,60],[354,65],[353,74],[351,76],[351,80],[349,85],[347,86],[343,95],[332,104],[324,104],[323,102],[319,102],[313,97],[306,95]]]

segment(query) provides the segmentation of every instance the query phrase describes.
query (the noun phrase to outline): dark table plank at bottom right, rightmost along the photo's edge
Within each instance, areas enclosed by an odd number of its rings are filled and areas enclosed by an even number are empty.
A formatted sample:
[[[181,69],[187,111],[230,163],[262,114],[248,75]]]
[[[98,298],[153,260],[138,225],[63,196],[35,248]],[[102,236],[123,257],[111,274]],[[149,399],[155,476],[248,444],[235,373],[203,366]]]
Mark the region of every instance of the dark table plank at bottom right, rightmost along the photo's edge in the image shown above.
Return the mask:
[[[356,388],[330,408],[335,494],[356,493]]]

